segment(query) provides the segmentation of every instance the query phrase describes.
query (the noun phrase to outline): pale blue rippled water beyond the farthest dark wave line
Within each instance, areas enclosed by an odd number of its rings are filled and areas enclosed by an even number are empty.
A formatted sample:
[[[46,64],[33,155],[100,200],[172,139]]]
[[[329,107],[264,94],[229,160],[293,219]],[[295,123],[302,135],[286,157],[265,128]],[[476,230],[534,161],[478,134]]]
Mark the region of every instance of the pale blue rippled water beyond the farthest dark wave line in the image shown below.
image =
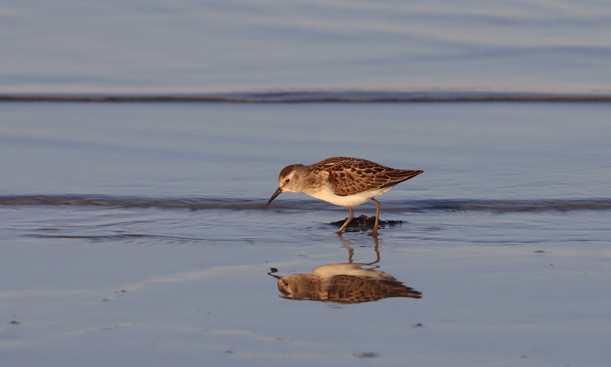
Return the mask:
[[[2,92],[606,91],[606,1],[4,1]]]

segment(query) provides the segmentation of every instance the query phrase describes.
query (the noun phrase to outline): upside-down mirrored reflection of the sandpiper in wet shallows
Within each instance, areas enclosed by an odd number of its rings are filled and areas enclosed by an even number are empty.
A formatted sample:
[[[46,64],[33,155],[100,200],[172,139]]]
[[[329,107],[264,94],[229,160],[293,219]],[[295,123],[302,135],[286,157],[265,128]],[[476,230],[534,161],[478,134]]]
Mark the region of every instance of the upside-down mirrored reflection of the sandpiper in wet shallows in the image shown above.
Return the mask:
[[[349,251],[348,264],[328,264],[316,267],[312,273],[277,276],[271,269],[269,275],[278,280],[280,297],[289,300],[313,300],[333,303],[373,302],[389,297],[422,298],[422,293],[404,286],[403,283],[373,265],[379,261],[363,264],[352,263]],[[351,250],[351,248],[349,248]]]

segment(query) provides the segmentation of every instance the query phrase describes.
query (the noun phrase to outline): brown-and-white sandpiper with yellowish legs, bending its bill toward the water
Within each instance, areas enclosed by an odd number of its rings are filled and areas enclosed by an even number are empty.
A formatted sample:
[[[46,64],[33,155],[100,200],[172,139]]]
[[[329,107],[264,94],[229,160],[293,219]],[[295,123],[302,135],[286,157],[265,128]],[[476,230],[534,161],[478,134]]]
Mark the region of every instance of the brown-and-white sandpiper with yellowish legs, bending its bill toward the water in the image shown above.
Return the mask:
[[[350,213],[337,231],[341,234],[354,218],[352,207],[371,199],[376,204],[376,221],[369,234],[376,235],[379,229],[380,203],[374,198],[422,172],[424,171],[389,168],[372,161],[349,157],[327,158],[309,166],[290,165],[280,171],[279,187],[269,198],[267,205],[283,191],[287,191],[306,193],[331,204],[346,206]]]

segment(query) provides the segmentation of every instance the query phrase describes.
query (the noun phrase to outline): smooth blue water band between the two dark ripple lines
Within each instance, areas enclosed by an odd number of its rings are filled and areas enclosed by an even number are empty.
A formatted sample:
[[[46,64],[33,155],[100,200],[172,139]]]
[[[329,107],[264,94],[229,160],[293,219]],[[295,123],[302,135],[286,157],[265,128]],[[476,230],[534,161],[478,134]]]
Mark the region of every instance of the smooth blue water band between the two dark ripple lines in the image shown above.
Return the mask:
[[[609,198],[609,112],[599,103],[4,103],[0,193],[252,200],[270,196],[288,164],[347,155],[424,169],[393,189],[418,191],[413,199]]]

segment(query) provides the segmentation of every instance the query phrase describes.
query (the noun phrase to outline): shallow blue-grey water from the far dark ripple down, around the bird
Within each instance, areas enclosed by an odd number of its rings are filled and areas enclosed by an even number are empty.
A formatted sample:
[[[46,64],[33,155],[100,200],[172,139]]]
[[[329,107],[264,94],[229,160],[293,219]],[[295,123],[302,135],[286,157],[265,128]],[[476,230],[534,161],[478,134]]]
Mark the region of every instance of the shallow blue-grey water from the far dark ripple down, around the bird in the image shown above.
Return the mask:
[[[4,103],[0,358],[607,365],[610,112]],[[348,210],[306,195],[265,206],[285,165],[337,155],[425,171],[379,198],[399,223],[377,239],[338,237]],[[368,270],[305,292],[331,302],[280,297],[272,276],[329,281],[348,262]],[[421,298],[338,298],[386,277]]]

